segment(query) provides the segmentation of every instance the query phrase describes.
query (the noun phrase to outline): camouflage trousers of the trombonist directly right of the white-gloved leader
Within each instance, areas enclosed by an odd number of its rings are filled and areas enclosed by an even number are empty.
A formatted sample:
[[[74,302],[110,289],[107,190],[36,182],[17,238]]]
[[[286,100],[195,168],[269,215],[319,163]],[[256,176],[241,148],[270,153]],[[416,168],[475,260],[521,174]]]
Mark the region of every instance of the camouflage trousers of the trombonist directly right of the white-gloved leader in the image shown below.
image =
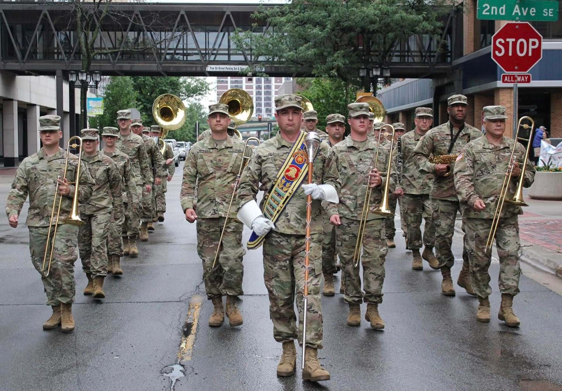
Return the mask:
[[[353,253],[357,243],[359,220],[340,217],[342,224],[336,228],[339,261],[342,264],[342,283],[345,291],[344,299],[348,303],[382,303],[384,282],[384,259],[388,252],[384,240],[384,219],[368,220],[363,236],[363,289],[359,265],[353,266]]]

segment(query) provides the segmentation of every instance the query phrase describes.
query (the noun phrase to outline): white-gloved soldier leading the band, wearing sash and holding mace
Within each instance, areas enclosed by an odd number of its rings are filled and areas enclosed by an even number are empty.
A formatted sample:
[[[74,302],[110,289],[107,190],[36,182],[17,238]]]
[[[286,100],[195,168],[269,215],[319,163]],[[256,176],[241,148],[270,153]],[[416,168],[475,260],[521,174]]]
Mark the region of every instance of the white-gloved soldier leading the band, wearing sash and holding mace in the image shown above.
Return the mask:
[[[320,286],[322,274],[323,214],[320,200],[337,202],[339,174],[328,143],[320,143],[314,160],[314,178],[310,185],[298,187],[280,212],[275,224],[266,219],[257,206],[259,190],[268,192],[274,184],[293,143],[302,133],[302,98],[294,94],[275,99],[275,118],[279,132],[261,143],[242,174],[238,201],[238,218],[264,239],[264,280],[269,292],[269,313],[273,321],[273,337],[283,343],[283,353],[277,366],[278,376],[294,374],[296,349],[294,339],[302,341],[303,289],[305,274],[306,193],[311,203],[309,308],[306,326],[305,369],[302,378],[311,381],[328,380],[330,374],[320,366],[318,350],[322,347],[322,310]],[[298,151],[296,152],[298,153]],[[294,155],[293,155],[294,156]],[[298,174],[295,174],[298,176]],[[287,175],[285,174],[285,178]],[[296,176],[294,177],[296,178]],[[303,179],[305,181],[306,179]],[[321,185],[317,185],[321,183]],[[267,196],[266,196],[267,197]],[[266,199],[264,197],[264,200]],[[297,305],[299,322],[294,313]]]

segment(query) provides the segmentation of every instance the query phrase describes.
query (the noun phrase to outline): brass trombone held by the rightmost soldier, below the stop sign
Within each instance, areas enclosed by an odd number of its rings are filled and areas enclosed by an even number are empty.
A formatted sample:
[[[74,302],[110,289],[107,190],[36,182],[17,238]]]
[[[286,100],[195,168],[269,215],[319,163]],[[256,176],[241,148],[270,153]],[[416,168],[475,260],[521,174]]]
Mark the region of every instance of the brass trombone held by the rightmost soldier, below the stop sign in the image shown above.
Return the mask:
[[[523,121],[531,122],[531,125],[523,124]],[[529,131],[529,138],[519,137],[519,129],[531,129]],[[490,233],[488,234],[488,239],[486,240],[486,247],[484,251],[486,253],[492,251],[493,239],[496,237],[497,226],[500,224],[501,212],[504,208],[504,203],[510,203],[518,206],[528,206],[523,199],[523,184],[525,183],[525,169],[527,169],[527,160],[529,158],[529,150],[532,148],[533,138],[531,135],[534,130],[534,120],[531,117],[521,117],[517,124],[517,131],[514,137],[513,149],[511,149],[511,155],[509,157],[509,164],[507,165],[507,170],[505,172],[504,183],[501,185],[500,196],[497,198],[496,211],[493,214],[492,226],[490,227]],[[509,191],[509,183],[511,180],[511,174],[513,174],[514,160],[513,155],[515,153],[515,148],[517,147],[517,142],[519,140],[526,141],[527,147],[525,148],[525,155],[523,156],[523,166],[521,167],[521,173],[519,174],[519,181],[517,183],[517,188],[515,194],[511,198],[507,198],[507,192]]]

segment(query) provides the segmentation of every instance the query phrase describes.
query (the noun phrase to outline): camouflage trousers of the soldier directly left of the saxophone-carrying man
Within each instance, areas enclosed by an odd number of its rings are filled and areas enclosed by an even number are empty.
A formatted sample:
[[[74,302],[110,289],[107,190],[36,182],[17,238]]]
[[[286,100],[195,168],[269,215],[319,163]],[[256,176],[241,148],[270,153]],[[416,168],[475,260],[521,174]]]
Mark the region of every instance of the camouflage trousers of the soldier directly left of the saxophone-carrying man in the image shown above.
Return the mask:
[[[419,249],[422,244],[433,248],[435,245],[435,225],[433,224],[433,208],[429,194],[404,194],[402,199],[407,205],[404,219],[407,226],[407,248]],[[401,204],[402,205],[402,204]],[[422,217],[425,219],[422,242]]]

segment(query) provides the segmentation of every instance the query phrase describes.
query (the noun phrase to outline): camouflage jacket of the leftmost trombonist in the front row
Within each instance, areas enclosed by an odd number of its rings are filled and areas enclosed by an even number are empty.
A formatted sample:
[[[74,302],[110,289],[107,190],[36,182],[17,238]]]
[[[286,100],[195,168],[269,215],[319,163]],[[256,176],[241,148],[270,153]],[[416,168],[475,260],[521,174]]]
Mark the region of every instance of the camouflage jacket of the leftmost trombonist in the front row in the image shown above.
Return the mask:
[[[19,215],[21,207],[29,194],[28,219],[25,222],[31,227],[44,227],[49,225],[51,211],[55,197],[57,176],[64,175],[66,151],[62,148],[53,156],[45,156],[43,148],[39,152],[28,156],[17,167],[16,177],[13,179],[12,188],[6,201],[6,215]],[[66,178],[74,182],[78,156],[70,154]],[[94,180],[85,163],[80,165],[80,178],[78,188],[78,202],[88,202],[92,195]],[[70,213],[75,185],[70,185],[68,196],[62,197],[61,213],[64,219]]]

